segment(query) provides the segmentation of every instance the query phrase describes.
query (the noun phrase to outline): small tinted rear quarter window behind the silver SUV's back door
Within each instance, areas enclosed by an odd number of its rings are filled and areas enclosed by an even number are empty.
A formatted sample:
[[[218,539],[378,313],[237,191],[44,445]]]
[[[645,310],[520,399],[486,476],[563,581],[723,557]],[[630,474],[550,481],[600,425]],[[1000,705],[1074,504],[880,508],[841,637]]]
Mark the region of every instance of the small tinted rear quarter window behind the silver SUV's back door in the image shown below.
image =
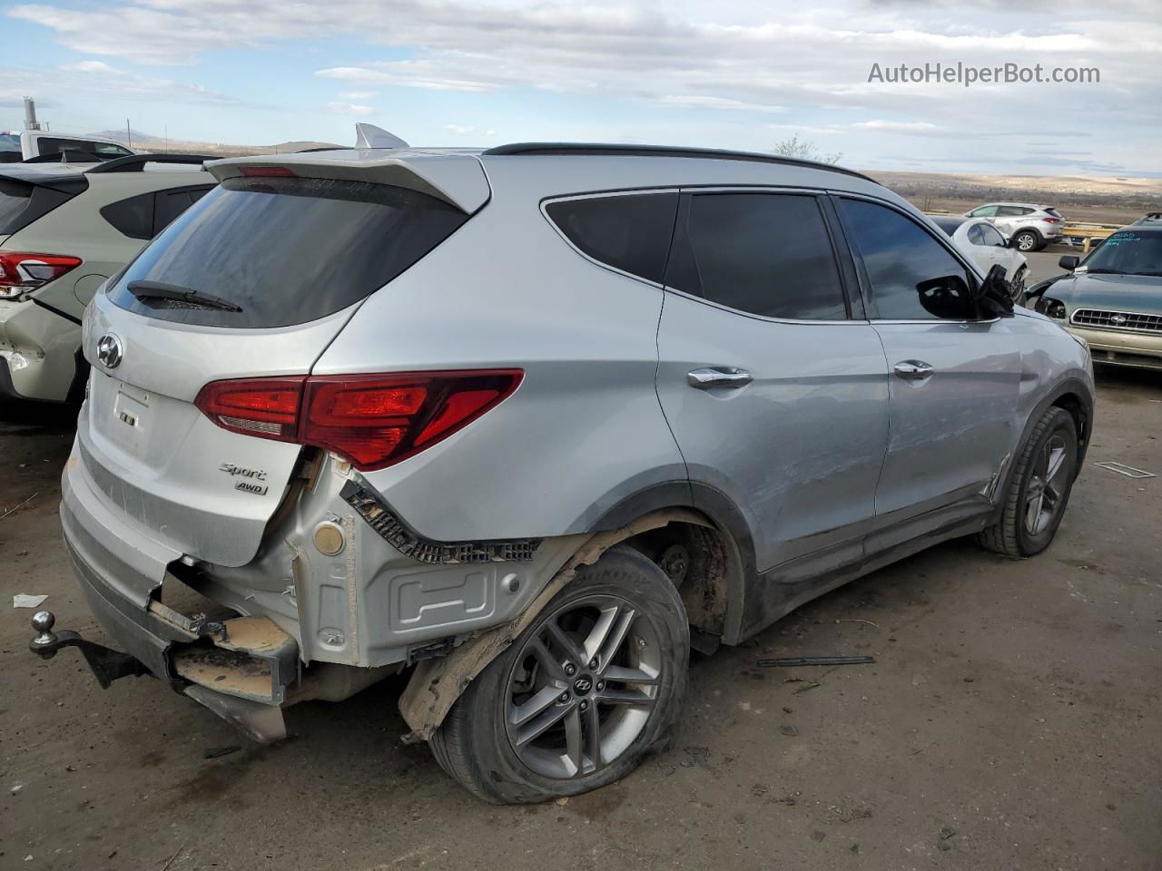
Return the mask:
[[[594,260],[661,282],[677,194],[564,200],[545,210],[565,237]]]

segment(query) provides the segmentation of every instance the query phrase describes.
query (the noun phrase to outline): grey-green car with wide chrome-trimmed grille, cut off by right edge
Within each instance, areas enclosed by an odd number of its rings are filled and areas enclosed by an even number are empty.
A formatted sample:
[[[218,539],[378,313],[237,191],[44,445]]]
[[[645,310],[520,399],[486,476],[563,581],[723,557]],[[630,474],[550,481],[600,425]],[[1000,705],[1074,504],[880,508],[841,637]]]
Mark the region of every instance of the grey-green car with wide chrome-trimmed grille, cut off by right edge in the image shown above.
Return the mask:
[[[1069,273],[1030,288],[1035,309],[1085,339],[1095,362],[1162,369],[1162,221],[1139,221],[1081,262],[1057,262]]]

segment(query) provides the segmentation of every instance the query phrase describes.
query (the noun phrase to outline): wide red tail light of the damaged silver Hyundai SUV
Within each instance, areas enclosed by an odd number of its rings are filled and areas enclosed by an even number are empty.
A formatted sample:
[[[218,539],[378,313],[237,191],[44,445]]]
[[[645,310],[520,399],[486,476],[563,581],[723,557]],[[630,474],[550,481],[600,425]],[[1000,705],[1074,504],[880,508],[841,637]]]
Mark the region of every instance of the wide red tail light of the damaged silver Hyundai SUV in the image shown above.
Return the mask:
[[[194,404],[230,432],[333,451],[360,472],[400,462],[495,408],[521,369],[211,381]]]

